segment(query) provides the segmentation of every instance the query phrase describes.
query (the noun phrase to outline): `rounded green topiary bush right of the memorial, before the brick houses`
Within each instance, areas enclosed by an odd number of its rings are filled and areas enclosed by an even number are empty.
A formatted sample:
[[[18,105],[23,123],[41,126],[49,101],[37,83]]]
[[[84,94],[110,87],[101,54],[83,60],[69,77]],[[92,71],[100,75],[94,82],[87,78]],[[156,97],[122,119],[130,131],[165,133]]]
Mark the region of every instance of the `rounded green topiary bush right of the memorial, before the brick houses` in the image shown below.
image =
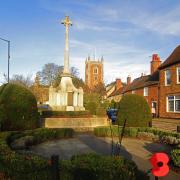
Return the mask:
[[[129,127],[146,127],[152,121],[151,111],[146,99],[135,94],[122,97],[118,104],[117,123]]]

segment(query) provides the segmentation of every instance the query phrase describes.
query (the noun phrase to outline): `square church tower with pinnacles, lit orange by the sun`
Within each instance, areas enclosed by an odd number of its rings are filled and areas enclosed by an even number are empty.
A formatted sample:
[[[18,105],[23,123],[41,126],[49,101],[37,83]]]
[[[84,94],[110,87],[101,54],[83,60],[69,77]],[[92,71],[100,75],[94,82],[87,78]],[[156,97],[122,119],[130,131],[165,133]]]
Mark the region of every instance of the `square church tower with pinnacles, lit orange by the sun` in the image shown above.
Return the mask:
[[[85,61],[85,83],[90,88],[93,89],[99,83],[103,82],[103,57],[101,60],[91,60],[90,56]]]

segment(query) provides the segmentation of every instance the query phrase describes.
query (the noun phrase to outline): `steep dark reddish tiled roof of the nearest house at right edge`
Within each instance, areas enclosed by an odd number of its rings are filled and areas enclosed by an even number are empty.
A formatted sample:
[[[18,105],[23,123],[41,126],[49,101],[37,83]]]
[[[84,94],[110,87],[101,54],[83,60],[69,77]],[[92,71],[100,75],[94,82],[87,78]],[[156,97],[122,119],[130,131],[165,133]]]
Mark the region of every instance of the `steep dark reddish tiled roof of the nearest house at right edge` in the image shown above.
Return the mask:
[[[177,46],[171,55],[159,66],[159,69],[164,69],[177,63],[180,63],[180,45]]]

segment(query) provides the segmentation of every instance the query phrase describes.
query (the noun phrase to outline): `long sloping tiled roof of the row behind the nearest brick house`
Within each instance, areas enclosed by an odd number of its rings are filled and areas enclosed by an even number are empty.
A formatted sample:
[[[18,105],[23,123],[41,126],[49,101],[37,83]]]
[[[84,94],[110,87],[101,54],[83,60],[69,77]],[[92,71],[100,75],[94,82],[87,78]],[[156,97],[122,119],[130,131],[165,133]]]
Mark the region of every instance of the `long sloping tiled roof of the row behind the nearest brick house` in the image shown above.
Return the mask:
[[[156,71],[152,75],[141,76],[139,78],[134,79],[134,81],[130,85],[127,85],[123,89],[123,92],[155,85],[158,84],[158,82],[159,82],[159,71]]]

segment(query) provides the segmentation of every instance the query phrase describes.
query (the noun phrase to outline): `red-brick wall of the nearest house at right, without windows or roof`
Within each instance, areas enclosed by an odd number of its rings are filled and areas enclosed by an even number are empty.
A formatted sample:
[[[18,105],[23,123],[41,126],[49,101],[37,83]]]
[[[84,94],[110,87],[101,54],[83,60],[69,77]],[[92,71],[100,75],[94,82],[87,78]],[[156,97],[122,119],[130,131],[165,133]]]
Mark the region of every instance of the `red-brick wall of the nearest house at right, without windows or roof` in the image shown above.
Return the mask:
[[[165,86],[165,70],[160,70],[160,117],[165,118],[180,118],[180,113],[167,112],[167,96],[168,95],[180,95],[180,84],[177,84],[177,74],[176,68],[180,67],[180,63],[170,66],[166,69],[169,69],[171,72],[171,85]]]

